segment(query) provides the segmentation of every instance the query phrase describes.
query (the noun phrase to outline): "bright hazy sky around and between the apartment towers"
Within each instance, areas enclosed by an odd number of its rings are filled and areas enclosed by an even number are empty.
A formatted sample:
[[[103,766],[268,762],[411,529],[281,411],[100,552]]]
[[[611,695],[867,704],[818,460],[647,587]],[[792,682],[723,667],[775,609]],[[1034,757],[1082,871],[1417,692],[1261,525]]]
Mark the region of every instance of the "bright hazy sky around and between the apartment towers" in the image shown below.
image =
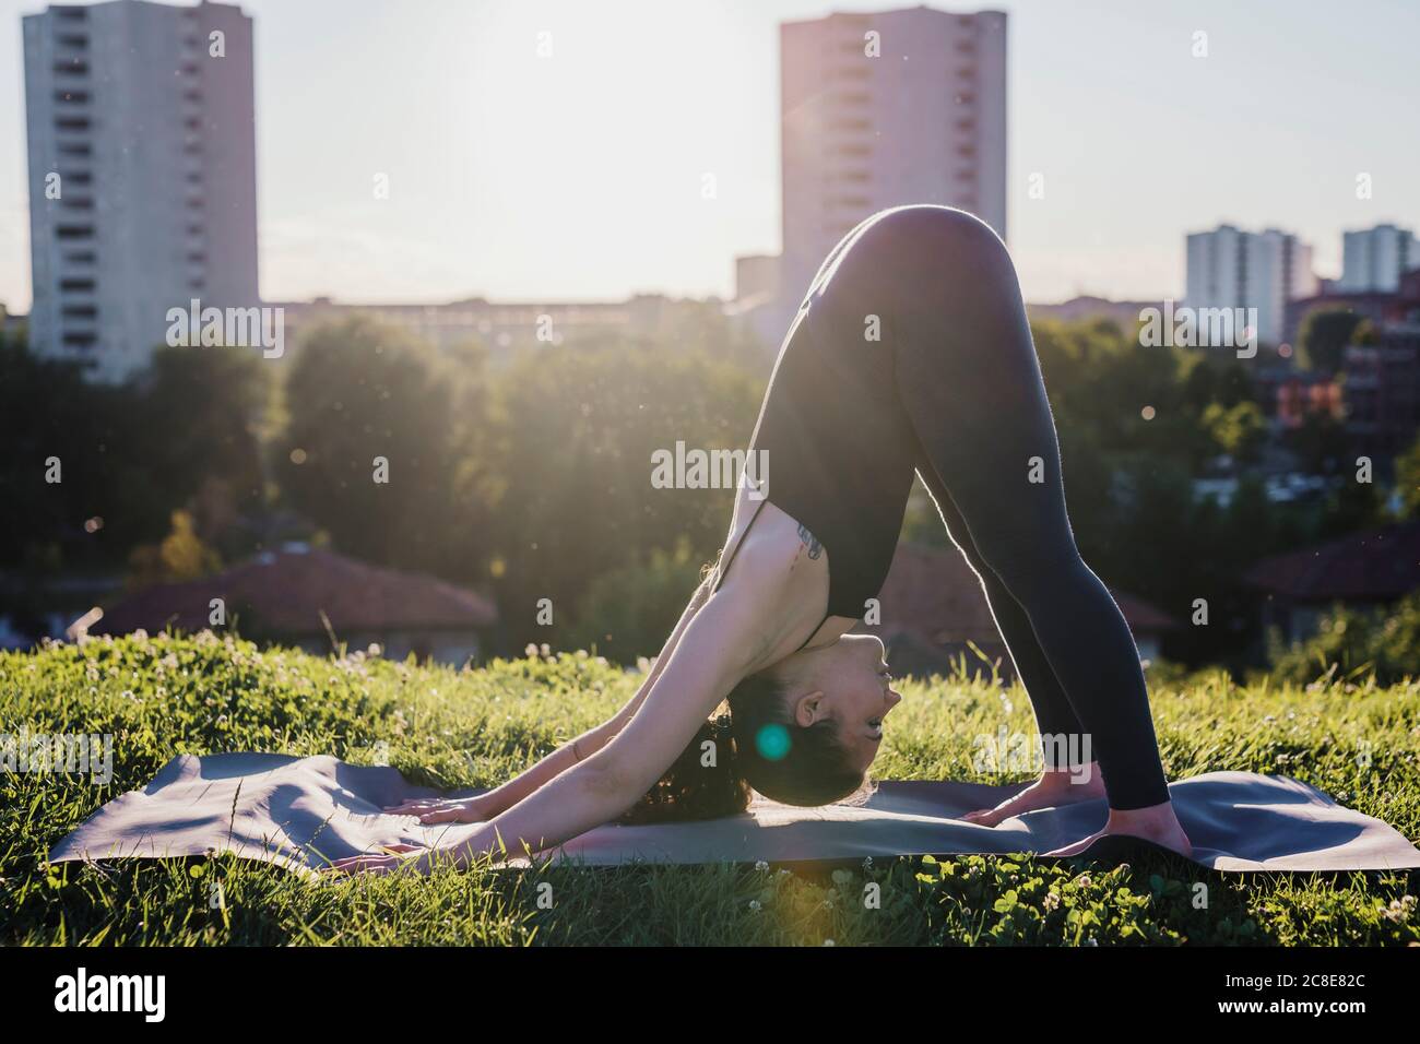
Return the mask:
[[[736,254],[780,249],[777,23],[903,6],[244,0],[261,293],[728,297]],[[1008,241],[1028,300],[1181,295],[1183,236],[1218,222],[1299,233],[1323,276],[1343,229],[1420,229],[1420,4],[991,7],[1010,13]],[[11,311],[30,303],[20,16],[41,9],[0,0]],[[1191,57],[1198,30],[1206,58]],[[537,57],[541,31],[551,58]],[[1035,172],[1045,199],[1027,195]]]

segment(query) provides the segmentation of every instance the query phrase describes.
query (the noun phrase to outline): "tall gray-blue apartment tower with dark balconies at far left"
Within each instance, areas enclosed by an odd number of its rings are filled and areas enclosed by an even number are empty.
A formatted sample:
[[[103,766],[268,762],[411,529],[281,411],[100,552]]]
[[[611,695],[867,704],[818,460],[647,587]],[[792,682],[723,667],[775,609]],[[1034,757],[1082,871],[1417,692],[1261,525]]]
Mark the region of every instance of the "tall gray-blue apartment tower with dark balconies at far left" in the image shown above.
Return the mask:
[[[258,304],[251,41],[227,4],[26,16],[36,351],[118,381],[170,308]]]

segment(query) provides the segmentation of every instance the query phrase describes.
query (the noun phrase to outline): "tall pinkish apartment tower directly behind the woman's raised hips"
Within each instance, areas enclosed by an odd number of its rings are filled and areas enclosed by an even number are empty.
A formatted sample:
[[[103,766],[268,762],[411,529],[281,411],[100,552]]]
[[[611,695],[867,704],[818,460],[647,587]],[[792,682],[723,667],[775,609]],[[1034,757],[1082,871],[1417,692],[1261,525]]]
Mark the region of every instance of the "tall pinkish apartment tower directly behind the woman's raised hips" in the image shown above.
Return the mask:
[[[889,206],[946,203],[1005,239],[1005,14],[930,7],[780,26],[790,310],[834,244]]]

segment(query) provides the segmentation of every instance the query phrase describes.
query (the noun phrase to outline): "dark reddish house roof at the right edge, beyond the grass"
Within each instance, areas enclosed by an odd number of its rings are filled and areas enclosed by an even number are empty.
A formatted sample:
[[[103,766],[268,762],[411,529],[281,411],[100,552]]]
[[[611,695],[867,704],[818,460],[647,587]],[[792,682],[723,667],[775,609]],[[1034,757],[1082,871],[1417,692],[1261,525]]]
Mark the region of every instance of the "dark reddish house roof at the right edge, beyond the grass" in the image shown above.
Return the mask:
[[[1301,602],[1390,601],[1420,588],[1420,521],[1353,533],[1264,558],[1250,585]]]

